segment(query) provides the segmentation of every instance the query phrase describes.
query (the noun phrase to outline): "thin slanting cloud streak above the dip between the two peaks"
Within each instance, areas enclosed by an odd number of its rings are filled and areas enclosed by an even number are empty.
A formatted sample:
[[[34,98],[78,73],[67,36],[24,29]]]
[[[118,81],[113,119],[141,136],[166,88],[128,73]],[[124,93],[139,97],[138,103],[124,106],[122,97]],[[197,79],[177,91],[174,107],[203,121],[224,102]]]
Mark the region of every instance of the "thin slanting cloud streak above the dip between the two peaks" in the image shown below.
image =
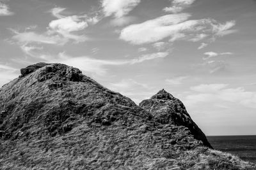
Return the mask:
[[[168,52],[158,52],[158,53],[150,53],[146,55],[141,55],[138,57],[138,59],[132,59],[129,61],[129,64],[136,64],[143,62],[145,60],[153,60],[153,59],[159,59],[159,58],[164,58],[168,55]]]

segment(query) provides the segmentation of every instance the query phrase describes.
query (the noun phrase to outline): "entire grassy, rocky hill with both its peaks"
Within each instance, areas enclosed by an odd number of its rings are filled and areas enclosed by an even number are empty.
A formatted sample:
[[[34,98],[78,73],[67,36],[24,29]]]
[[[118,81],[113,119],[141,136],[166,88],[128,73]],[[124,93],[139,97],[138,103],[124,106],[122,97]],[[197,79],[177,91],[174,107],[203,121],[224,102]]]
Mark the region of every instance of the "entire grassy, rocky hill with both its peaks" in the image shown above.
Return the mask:
[[[137,106],[74,67],[38,63],[0,90],[0,169],[255,169],[212,149],[165,90]]]

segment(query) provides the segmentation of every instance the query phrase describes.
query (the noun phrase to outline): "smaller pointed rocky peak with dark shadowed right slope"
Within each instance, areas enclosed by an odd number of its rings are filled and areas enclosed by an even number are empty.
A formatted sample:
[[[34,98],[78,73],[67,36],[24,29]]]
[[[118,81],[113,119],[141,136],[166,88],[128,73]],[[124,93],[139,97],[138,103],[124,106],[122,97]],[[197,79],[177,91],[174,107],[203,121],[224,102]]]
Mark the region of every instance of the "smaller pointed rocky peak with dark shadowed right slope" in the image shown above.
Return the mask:
[[[140,106],[151,113],[155,120],[161,124],[182,125],[188,127],[195,139],[202,141],[205,146],[212,148],[207,141],[205,134],[189,116],[184,104],[164,89],[160,90],[150,99],[142,101]]]

